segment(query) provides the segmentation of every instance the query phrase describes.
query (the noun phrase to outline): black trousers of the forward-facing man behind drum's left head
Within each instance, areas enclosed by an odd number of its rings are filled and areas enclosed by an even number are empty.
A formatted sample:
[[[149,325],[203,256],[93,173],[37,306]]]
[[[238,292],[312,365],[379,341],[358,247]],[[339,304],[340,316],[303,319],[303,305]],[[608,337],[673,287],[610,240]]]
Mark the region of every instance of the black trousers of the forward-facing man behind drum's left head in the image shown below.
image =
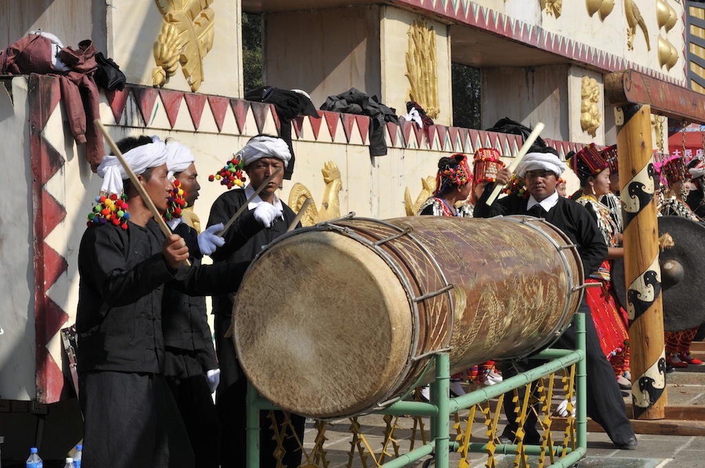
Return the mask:
[[[224,338],[230,323],[230,317],[219,319],[216,316],[216,351],[221,367],[221,383],[216,393],[216,410],[221,422],[221,467],[243,468],[247,460],[247,378],[240,369],[233,340]],[[286,385],[286,381],[281,384]],[[263,411],[259,414],[259,466],[276,468],[276,441],[273,440],[274,431],[269,429],[271,420],[266,417],[267,413]],[[281,425],[283,412],[275,411],[274,414],[277,424]],[[290,418],[299,440],[303,442],[305,417],[291,414]],[[287,428],[283,449],[283,466],[298,468],[301,464],[301,449],[290,433],[290,428]]]

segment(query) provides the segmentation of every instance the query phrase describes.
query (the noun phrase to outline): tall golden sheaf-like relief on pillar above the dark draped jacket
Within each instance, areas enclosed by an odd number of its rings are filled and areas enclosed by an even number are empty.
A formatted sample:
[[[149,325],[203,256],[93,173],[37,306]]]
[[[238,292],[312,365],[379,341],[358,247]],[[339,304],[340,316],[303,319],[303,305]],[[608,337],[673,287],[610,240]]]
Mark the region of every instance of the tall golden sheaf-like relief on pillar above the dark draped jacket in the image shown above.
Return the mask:
[[[423,20],[414,21],[407,32],[409,49],[405,54],[406,73],[411,85],[409,99],[424,108],[427,116],[438,118],[439,106],[438,74],[436,67],[436,32]]]

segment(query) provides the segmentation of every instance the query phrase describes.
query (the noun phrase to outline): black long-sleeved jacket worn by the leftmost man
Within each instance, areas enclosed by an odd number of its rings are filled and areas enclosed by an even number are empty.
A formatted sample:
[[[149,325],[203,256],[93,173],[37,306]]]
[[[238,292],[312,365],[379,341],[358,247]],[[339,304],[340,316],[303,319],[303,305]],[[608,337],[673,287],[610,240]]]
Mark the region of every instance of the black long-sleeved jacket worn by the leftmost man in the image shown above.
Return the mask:
[[[164,283],[192,295],[238,288],[243,265],[180,266],[164,262],[164,234],[149,220],[88,228],[78,252],[78,371],[161,373],[164,335],[161,300]]]

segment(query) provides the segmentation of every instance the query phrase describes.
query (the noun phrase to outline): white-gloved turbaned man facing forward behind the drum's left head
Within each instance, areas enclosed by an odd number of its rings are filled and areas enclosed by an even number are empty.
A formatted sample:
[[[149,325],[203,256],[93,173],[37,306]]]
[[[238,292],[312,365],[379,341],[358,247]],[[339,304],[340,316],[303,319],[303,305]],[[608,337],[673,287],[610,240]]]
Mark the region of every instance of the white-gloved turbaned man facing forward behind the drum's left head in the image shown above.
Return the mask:
[[[243,247],[238,247],[238,239],[243,237],[238,226],[229,229],[224,237],[226,244],[216,250],[211,257],[216,263],[221,261],[252,261],[264,245],[286,233],[290,223],[294,221],[294,212],[284,204],[277,196],[279,184],[284,175],[284,168],[291,159],[289,148],[278,137],[259,135],[252,138],[243,149],[235,154],[238,161],[244,164],[245,173],[250,178],[250,184],[243,190],[230,190],[223,193],[211,208],[208,225],[216,223],[227,223],[228,220],[255,194],[255,191],[262,188],[262,191],[249,203],[247,207],[255,217],[265,214],[268,210],[269,216],[263,218],[266,228],[260,230],[251,237]],[[263,183],[275,171],[278,173],[262,187]],[[261,214],[257,212],[260,211]],[[245,218],[243,214],[240,218]],[[240,221],[238,218],[238,222]],[[246,233],[249,237],[250,233]],[[274,281],[276,278],[272,278]],[[241,468],[245,466],[246,450],[246,398],[247,398],[247,378],[240,368],[238,358],[235,355],[235,346],[232,338],[226,338],[226,331],[232,323],[234,295],[221,295],[213,298],[213,312],[215,314],[216,329],[216,350],[221,366],[221,383],[216,394],[216,409],[221,419],[221,432],[223,438],[221,446],[221,467]],[[266,305],[263,302],[262,313],[266,314]],[[283,382],[282,385],[286,385]],[[283,421],[282,412],[274,412],[278,424]],[[305,419],[295,414],[291,415],[291,421],[296,429],[298,438],[303,440],[303,429]],[[260,456],[261,467],[276,467],[276,442],[272,440],[273,433],[269,429],[270,422],[261,417],[261,437]],[[286,452],[283,455],[283,464],[288,467],[298,467],[301,462],[301,452],[295,438],[288,434],[284,437],[283,448]]]

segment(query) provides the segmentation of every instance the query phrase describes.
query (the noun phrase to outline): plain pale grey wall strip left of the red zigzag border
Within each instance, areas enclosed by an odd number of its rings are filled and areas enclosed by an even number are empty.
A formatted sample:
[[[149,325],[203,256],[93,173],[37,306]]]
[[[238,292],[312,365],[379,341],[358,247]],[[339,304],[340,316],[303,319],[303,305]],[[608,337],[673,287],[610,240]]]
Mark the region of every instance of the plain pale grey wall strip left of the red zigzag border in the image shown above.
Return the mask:
[[[9,80],[3,80],[9,82]],[[35,397],[32,170],[27,81],[0,85],[0,399]]]

